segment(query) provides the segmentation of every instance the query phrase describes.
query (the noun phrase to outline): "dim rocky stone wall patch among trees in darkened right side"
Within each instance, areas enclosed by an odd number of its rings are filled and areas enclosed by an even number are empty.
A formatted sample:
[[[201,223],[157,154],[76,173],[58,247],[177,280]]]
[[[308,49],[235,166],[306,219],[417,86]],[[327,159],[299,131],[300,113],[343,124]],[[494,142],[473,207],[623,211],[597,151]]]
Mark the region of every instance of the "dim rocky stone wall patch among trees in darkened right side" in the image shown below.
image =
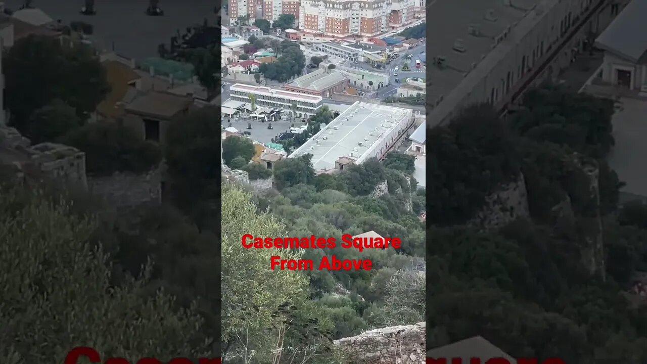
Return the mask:
[[[485,199],[485,206],[468,225],[496,229],[518,218],[529,218],[528,194],[523,174]]]

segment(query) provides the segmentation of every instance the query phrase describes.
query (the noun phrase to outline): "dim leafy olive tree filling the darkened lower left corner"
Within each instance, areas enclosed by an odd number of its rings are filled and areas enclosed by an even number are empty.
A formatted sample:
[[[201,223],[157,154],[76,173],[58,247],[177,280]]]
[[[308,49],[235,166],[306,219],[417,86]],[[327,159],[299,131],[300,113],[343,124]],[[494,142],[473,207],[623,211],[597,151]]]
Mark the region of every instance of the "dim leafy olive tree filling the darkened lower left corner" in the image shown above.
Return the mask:
[[[173,297],[145,292],[149,270],[111,284],[106,256],[87,243],[93,220],[40,192],[13,188],[2,196],[0,262],[12,266],[0,277],[0,339],[12,343],[0,348],[4,363],[62,363],[80,344],[102,359],[208,356],[208,348],[195,345],[195,310],[178,312]]]

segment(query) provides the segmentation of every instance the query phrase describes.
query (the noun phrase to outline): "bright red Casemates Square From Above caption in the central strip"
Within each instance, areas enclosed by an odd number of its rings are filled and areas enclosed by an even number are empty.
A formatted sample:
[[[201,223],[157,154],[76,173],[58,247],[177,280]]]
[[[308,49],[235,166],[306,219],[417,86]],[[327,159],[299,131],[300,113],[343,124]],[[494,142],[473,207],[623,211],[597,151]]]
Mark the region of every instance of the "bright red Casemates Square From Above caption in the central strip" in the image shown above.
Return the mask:
[[[245,234],[241,238],[241,244],[247,249],[333,249],[337,246],[335,238],[318,238],[314,235],[308,238],[261,238],[252,234]],[[340,246],[345,249],[356,249],[362,252],[364,249],[386,249],[388,247],[400,249],[402,242],[400,238],[382,238],[381,236],[353,237],[350,234],[344,234],[342,235]],[[270,269],[272,270],[311,271],[315,267],[320,271],[369,271],[373,267],[373,262],[369,259],[339,259],[333,255],[323,256],[322,260],[315,266],[312,259],[281,259],[278,255],[270,258]]]

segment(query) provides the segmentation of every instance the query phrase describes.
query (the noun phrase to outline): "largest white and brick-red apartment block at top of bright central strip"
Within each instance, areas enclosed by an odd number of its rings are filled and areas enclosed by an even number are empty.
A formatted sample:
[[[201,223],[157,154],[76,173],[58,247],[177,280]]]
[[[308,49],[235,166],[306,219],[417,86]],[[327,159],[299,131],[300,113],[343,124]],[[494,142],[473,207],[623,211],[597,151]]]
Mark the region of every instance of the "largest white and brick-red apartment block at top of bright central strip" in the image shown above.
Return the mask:
[[[415,0],[302,0],[299,27],[327,36],[375,36],[414,19]]]

